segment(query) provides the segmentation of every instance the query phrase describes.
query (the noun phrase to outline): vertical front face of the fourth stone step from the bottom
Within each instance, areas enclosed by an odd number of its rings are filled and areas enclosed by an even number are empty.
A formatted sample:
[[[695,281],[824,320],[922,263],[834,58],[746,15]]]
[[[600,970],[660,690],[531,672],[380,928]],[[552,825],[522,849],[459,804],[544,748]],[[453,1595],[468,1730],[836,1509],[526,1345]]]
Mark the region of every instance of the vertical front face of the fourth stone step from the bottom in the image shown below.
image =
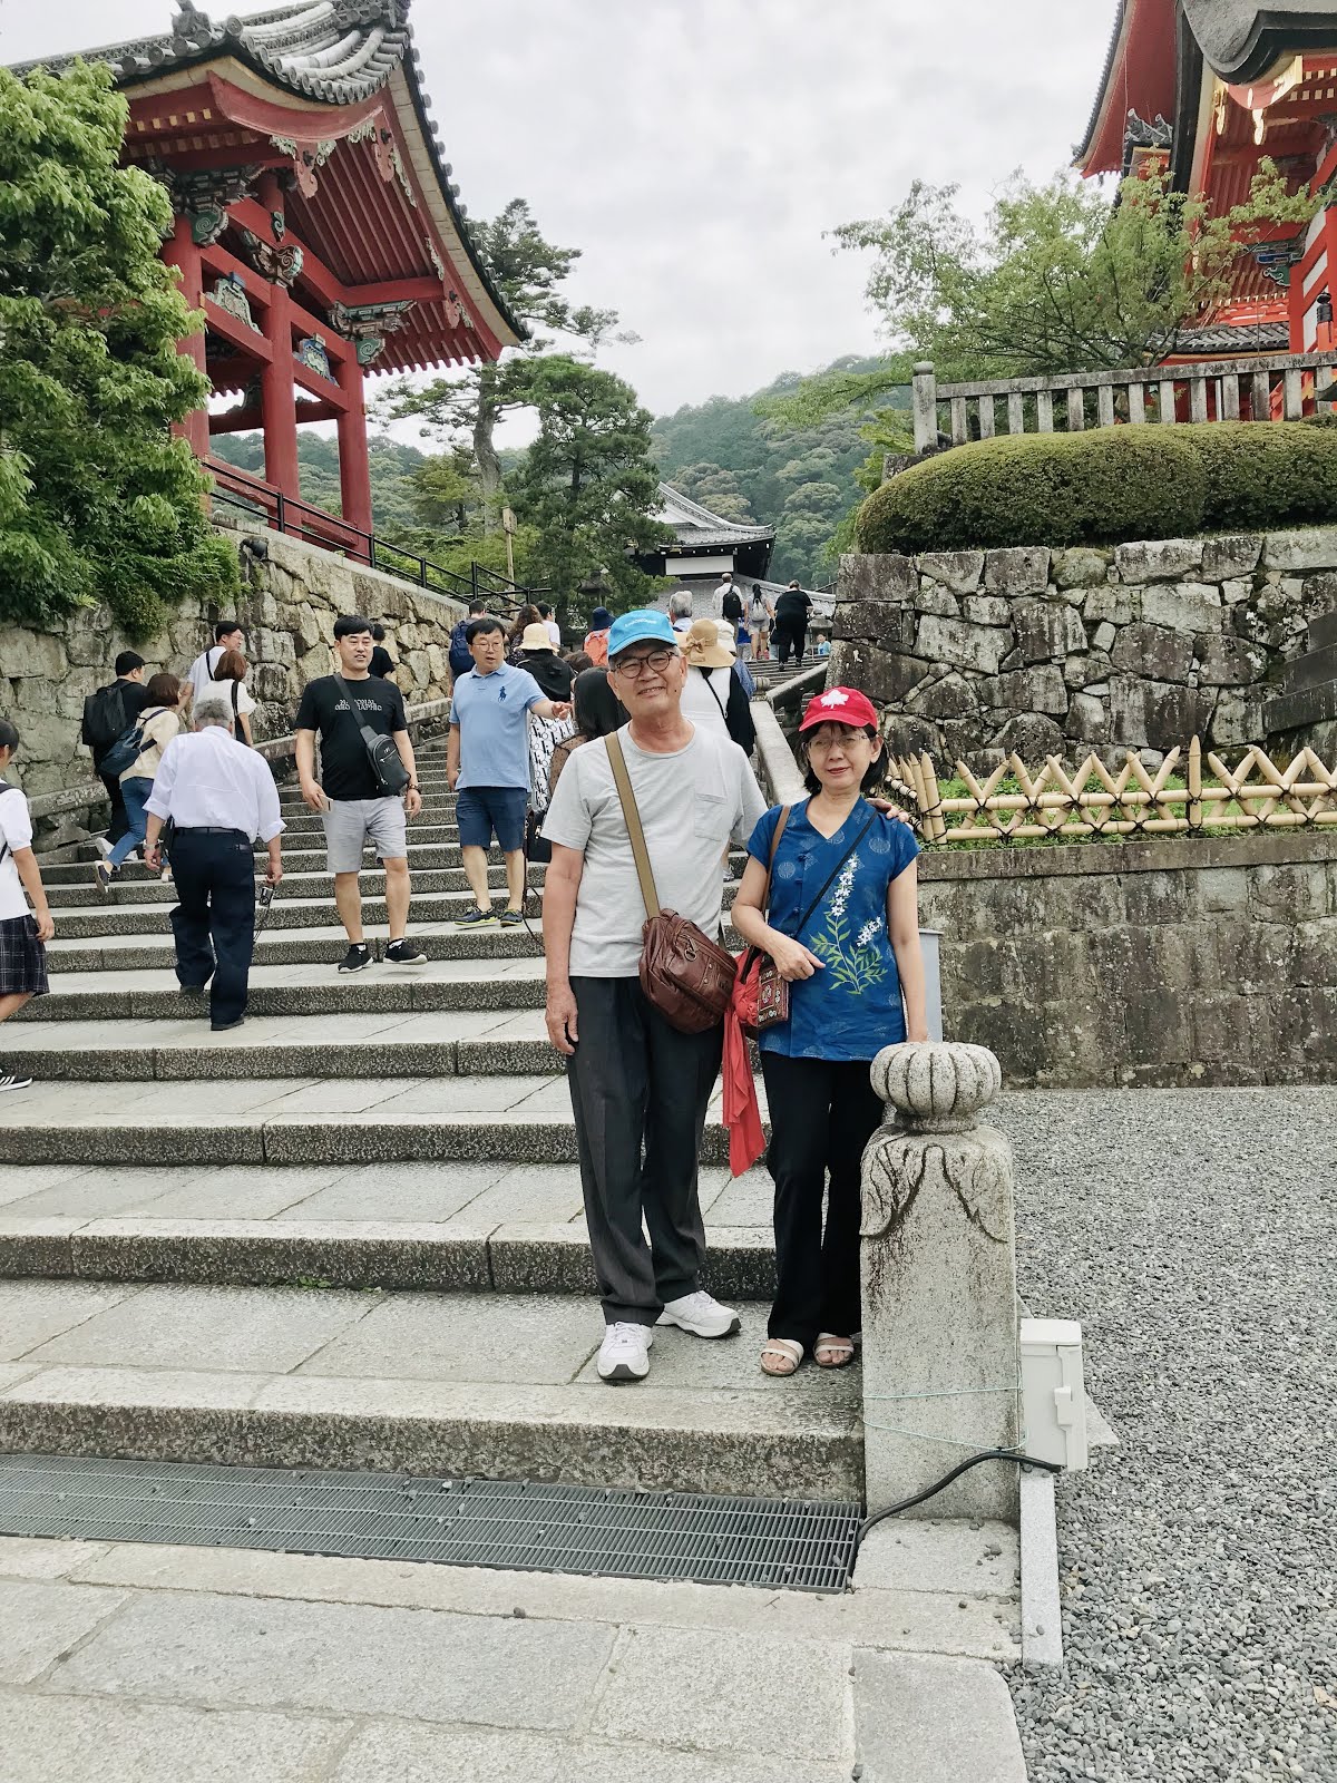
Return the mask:
[[[476,1007],[472,1004],[471,1007]],[[207,1023],[201,1011],[201,1036]],[[258,1009],[253,1011],[260,1015]],[[176,1015],[182,1015],[180,1007]],[[565,1070],[562,1057],[544,1039],[451,1039],[451,1041],[394,1041],[319,1045],[182,1045],[168,1047],[127,1045],[71,1047],[5,1047],[5,1072],[14,1077],[36,1077],[41,1082],[225,1082],[250,1077],[526,1077],[558,1075]],[[442,1091],[444,1097],[449,1091]],[[169,1118],[171,1109],[164,1109]]]

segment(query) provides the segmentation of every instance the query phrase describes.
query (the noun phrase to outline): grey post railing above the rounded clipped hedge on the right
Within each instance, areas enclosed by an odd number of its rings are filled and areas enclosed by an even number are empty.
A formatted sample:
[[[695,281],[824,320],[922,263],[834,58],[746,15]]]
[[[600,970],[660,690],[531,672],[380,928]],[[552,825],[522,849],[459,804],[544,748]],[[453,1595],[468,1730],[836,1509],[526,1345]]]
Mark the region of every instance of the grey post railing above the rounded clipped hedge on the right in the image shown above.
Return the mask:
[[[938,383],[932,364],[915,367],[915,451],[964,446],[997,433],[1080,433],[1087,428],[1180,421],[1300,421],[1332,389],[1337,351],[1148,366],[1136,371],[1068,371],[1048,378]],[[998,403],[1004,403],[998,426]],[[904,469],[890,460],[888,469]]]

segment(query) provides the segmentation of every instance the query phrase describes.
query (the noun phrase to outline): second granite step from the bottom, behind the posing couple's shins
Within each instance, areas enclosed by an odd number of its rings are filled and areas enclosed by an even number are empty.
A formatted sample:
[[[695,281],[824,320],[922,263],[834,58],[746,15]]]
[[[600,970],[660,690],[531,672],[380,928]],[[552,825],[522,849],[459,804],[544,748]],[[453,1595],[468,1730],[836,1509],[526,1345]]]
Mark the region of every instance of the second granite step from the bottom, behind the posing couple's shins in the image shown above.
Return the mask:
[[[708,1286],[774,1294],[772,1184],[701,1171]],[[594,1294],[574,1164],[0,1166],[0,1278]]]

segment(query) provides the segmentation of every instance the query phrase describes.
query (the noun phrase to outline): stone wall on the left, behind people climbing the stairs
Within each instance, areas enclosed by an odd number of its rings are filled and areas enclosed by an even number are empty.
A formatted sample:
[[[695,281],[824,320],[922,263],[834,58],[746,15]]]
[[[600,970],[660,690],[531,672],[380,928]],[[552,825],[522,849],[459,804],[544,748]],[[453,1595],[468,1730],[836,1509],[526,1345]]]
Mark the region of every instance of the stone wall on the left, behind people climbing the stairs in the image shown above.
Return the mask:
[[[251,720],[257,738],[292,729],[301,690],[333,667],[330,644],[340,613],[365,613],[385,622],[405,701],[446,695],[449,633],[465,613],[462,603],[283,533],[219,530],[234,537],[241,551],[242,592],[235,613],[246,628],[248,686],[258,701]],[[212,642],[212,620],[232,612],[234,606],[226,613],[201,603],[184,606],[160,637],[134,647],[150,674],[157,669],[184,674]],[[105,608],[75,613],[59,629],[4,629],[0,713],[21,733],[12,777],[29,793],[89,777],[93,763],[78,742],[84,699],[112,679],[112,663],[127,647]]]

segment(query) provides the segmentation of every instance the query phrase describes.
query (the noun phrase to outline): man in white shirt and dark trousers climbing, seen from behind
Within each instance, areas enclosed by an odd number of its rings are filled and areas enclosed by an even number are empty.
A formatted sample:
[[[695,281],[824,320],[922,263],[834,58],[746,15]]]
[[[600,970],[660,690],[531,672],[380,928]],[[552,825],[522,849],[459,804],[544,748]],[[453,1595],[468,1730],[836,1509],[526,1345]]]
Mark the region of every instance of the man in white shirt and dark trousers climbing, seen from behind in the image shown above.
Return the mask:
[[[173,736],[146,806],[144,861],[160,867],[159,834],[171,818],[171,872],[180,902],[171,913],[176,977],[201,993],[212,979],[216,1034],[246,1020],[255,949],[255,840],[269,849],[266,883],[283,877],[278,788],[269,763],[232,736],[232,701],[214,690],[194,706],[194,731]]]

